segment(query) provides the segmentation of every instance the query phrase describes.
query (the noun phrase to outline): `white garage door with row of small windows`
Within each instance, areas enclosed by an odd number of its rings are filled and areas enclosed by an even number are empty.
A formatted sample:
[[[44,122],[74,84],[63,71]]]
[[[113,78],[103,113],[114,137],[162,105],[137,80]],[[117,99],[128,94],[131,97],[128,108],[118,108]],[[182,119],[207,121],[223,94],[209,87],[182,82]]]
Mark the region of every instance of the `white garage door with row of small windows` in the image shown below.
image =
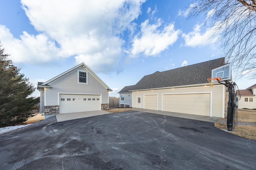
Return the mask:
[[[60,94],[60,113],[101,110],[100,95]]]

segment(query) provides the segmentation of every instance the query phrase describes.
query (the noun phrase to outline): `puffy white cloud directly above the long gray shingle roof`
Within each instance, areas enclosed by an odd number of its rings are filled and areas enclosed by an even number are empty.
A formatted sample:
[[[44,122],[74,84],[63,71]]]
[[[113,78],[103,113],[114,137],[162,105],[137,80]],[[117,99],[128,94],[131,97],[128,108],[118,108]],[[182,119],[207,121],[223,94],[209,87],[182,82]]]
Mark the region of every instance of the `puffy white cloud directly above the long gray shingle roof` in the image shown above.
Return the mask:
[[[149,20],[141,24],[141,35],[138,34],[132,41],[131,57],[137,57],[140,53],[154,56],[176,42],[180,30],[175,30],[174,24],[165,25],[160,30],[161,25],[160,19],[157,20],[156,24],[149,24]]]

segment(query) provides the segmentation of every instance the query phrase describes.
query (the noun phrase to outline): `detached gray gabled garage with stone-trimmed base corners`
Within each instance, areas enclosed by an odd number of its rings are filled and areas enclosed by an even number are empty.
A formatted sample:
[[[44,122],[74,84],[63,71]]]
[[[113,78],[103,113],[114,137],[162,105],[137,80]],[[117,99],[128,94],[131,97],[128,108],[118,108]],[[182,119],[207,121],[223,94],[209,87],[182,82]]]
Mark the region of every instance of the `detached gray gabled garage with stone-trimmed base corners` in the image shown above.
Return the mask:
[[[38,82],[40,113],[47,119],[55,114],[96,111],[109,108],[112,90],[81,63],[46,81]]]

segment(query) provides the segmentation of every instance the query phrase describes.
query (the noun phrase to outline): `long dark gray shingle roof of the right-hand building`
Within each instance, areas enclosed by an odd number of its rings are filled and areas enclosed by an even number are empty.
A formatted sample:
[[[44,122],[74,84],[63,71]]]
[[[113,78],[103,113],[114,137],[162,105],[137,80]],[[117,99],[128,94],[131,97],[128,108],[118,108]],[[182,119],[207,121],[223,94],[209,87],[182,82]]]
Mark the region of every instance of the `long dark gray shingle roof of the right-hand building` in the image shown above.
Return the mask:
[[[212,69],[218,68],[225,64],[225,58],[206,61],[203,63],[192,64],[163,72],[154,72],[144,76],[134,86],[126,86],[120,92],[130,90],[144,90],[154,88],[165,88],[175,86],[186,86],[192,84],[208,83],[207,78],[212,76]],[[120,93],[119,92],[119,93]]]

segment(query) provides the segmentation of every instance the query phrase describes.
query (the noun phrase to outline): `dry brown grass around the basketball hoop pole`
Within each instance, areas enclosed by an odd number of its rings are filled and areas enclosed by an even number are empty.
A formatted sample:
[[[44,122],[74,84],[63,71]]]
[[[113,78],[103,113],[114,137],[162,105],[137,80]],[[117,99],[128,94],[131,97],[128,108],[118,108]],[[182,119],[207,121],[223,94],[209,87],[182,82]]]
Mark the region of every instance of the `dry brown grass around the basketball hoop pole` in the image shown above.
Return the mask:
[[[238,109],[237,117],[238,122],[256,123],[255,110]],[[220,120],[227,121],[226,118],[220,118]],[[216,122],[214,125],[219,129],[227,129],[226,123]],[[236,127],[233,128],[232,131],[228,132],[240,137],[256,140],[256,125],[236,125]]]

